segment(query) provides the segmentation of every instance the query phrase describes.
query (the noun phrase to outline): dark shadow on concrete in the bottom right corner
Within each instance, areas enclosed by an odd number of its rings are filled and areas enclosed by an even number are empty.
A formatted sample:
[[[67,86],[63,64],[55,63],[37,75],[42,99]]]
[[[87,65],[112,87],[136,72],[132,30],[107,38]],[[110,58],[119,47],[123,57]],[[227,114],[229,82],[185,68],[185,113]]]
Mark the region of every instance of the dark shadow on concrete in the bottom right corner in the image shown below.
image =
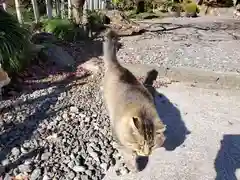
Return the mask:
[[[237,169],[240,169],[240,134],[226,134],[215,159],[216,180],[238,180]]]

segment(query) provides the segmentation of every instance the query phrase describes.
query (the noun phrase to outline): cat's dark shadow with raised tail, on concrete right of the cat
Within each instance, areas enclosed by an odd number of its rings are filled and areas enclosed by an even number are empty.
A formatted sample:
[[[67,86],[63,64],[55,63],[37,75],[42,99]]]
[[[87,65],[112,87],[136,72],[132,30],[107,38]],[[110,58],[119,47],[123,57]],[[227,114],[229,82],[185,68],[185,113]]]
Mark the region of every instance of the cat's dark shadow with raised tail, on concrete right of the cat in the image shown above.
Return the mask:
[[[156,70],[149,71],[148,78],[146,78],[144,84],[154,96],[155,105],[160,119],[165,125],[167,125],[167,130],[165,131],[166,140],[163,147],[167,151],[173,151],[185,141],[186,136],[190,134],[190,131],[185,126],[180,110],[177,106],[164,94],[157,92],[152,86],[157,75],[158,72]]]

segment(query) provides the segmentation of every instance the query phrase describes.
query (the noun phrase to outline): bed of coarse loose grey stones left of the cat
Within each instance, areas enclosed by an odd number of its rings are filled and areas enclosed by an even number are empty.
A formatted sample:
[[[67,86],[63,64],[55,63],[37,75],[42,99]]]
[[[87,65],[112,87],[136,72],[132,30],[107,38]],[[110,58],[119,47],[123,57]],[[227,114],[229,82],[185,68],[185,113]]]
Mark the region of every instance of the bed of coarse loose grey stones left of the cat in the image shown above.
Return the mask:
[[[102,179],[119,153],[112,145],[100,81],[99,75],[89,76],[2,101],[0,108],[10,107],[0,115],[3,177]],[[122,166],[119,171],[128,172]]]

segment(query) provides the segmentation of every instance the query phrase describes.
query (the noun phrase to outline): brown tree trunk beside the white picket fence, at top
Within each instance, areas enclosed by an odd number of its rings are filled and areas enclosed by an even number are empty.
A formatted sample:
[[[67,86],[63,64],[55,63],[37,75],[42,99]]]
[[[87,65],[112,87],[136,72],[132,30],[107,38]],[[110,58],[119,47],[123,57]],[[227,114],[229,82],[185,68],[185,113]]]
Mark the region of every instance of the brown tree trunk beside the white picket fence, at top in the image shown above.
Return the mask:
[[[73,19],[75,23],[78,25],[80,25],[82,22],[84,3],[85,3],[85,0],[72,0]]]

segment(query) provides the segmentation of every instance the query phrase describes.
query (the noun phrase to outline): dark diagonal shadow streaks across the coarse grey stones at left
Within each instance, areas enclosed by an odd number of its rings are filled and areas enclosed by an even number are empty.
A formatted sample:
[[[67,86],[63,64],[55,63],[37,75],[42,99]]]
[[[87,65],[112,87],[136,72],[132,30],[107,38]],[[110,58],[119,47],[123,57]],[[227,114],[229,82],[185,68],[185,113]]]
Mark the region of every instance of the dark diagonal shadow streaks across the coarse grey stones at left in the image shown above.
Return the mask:
[[[38,128],[39,124],[46,118],[53,118],[56,116],[56,113],[59,111],[64,110],[69,106],[69,103],[64,103],[60,107],[57,107],[57,109],[52,110],[52,106],[55,106],[58,97],[61,93],[68,91],[69,89],[74,86],[74,84],[70,84],[71,82],[75,80],[79,80],[82,77],[67,77],[66,79],[62,80],[62,82],[59,82],[58,85],[56,85],[55,90],[45,96],[42,96],[38,99],[33,99],[31,103],[37,103],[32,104],[32,106],[35,106],[33,113],[29,113],[28,116],[23,119],[19,123],[15,123],[13,118],[13,122],[5,122],[3,119],[3,123],[1,126],[1,133],[0,133],[0,162],[5,160],[10,154],[13,147],[21,147],[23,143],[27,140],[30,140],[31,137],[35,134],[34,132]],[[80,82],[78,85],[82,85],[85,82]],[[37,106],[37,107],[36,107]],[[14,111],[14,113],[16,113]],[[17,114],[15,114],[17,115]],[[6,166],[3,166],[0,168],[0,174],[7,173],[11,169],[16,168],[19,164],[24,162],[24,160],[31,158],[36,155],[36,152],[40,152],[41,147],[33,150],[32,152],[29,152],[25,155],[22,155],[20,158],[18,158],[16,161],[11,162],[10,164],[7,164]]]

